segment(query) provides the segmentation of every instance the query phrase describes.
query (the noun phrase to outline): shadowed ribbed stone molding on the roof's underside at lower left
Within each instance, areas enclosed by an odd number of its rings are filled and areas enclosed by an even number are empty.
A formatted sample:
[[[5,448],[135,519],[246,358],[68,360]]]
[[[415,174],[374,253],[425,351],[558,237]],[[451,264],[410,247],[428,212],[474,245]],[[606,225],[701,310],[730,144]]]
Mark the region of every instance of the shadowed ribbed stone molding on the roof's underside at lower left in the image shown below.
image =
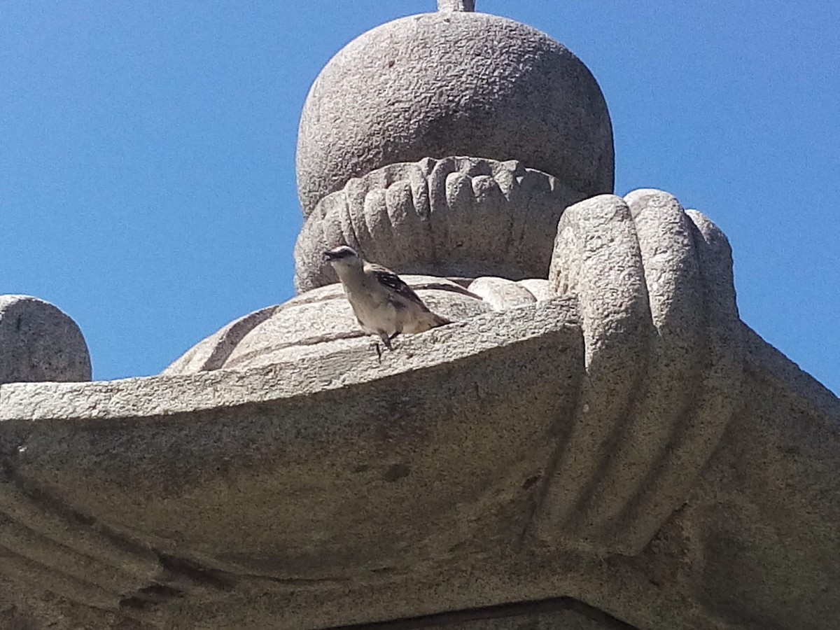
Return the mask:
[[[174,556],[113,533],[18,475],[29,432],[16,433],[0,434],[0,580],[46,590],[94,617],[136,617],[187,594],[204,595],[206,585]]]

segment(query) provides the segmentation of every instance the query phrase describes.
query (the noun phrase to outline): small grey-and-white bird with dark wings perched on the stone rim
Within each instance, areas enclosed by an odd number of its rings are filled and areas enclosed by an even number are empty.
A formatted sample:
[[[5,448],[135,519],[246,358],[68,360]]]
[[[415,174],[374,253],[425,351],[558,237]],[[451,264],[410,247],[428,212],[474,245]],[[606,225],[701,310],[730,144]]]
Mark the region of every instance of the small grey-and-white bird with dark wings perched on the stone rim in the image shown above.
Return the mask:
[[[400,333],[424,333],[452,323],[429,310],[411,286],[390,269],[364,260],[347,245],[329,249],[324,260],[339,276],[344,295],[365,333],[377,335],[389,350]],[[376,354],[381,349],[376,344]]]

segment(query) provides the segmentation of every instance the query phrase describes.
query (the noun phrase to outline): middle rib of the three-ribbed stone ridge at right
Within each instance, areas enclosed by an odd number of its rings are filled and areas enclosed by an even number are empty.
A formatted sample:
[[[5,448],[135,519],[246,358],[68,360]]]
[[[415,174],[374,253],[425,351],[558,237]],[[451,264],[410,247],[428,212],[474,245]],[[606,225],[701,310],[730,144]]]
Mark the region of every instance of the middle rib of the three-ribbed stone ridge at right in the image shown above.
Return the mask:
[[[633,396],[622,438],[606,462],[606,470],[601,471],[598,500],[580,515],[582,522],[594,522],[602,528],[614,522],[621,526],[620,517],[631,507],[630,497],[650,482],[650,475],[667,459],[675,433],[687,420],[685,415],[695,398],[698,364],[705,355],[697,351],[702,347],[706,307],[690,219],[680,202],[667,193],[637,191],[627,195],[625,201],[638,236],[654,329],[646,339],[647,367],[641,363],[637,366],[643,374],[643,393]],[[727,417],[722,418],[725,421]],[[705,449],[692,454],[700,464],[709,455]],[[696,473],[696,464],[686,462],[680,472]],[[680,493],[682,498],[685,493]],[[666,514],[661,509],[651,510],[643,497],[638,501],[648,508],[650,517],[659,519],[656,528],[673,508],[673,499],[668,501]]]

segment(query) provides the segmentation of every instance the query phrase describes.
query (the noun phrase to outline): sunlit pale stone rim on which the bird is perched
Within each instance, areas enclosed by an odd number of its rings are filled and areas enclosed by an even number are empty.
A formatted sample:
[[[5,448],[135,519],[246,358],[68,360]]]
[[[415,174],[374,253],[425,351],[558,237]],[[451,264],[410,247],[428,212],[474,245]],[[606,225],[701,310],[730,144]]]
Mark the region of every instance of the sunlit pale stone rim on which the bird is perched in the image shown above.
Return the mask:
[[[538,305],[491,312],[404,336],[380,362],[368,339],[318,363],[286,361],[259,370],[213,370],[90,383],[8,383],[0,386],[0,422],[92,420],[200,412],[375,381],[421,370],[470,354],[575,326],[574,301],[554,298]]]

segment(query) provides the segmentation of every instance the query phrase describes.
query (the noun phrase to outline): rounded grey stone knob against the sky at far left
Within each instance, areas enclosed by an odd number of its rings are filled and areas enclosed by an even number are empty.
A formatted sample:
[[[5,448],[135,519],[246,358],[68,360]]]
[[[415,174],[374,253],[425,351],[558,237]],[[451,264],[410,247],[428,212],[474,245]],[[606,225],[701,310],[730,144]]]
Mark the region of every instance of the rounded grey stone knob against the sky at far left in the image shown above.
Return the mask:
[[[29,296],[0,296],[0,384],[90,381],[91,358],[79,327]]]

